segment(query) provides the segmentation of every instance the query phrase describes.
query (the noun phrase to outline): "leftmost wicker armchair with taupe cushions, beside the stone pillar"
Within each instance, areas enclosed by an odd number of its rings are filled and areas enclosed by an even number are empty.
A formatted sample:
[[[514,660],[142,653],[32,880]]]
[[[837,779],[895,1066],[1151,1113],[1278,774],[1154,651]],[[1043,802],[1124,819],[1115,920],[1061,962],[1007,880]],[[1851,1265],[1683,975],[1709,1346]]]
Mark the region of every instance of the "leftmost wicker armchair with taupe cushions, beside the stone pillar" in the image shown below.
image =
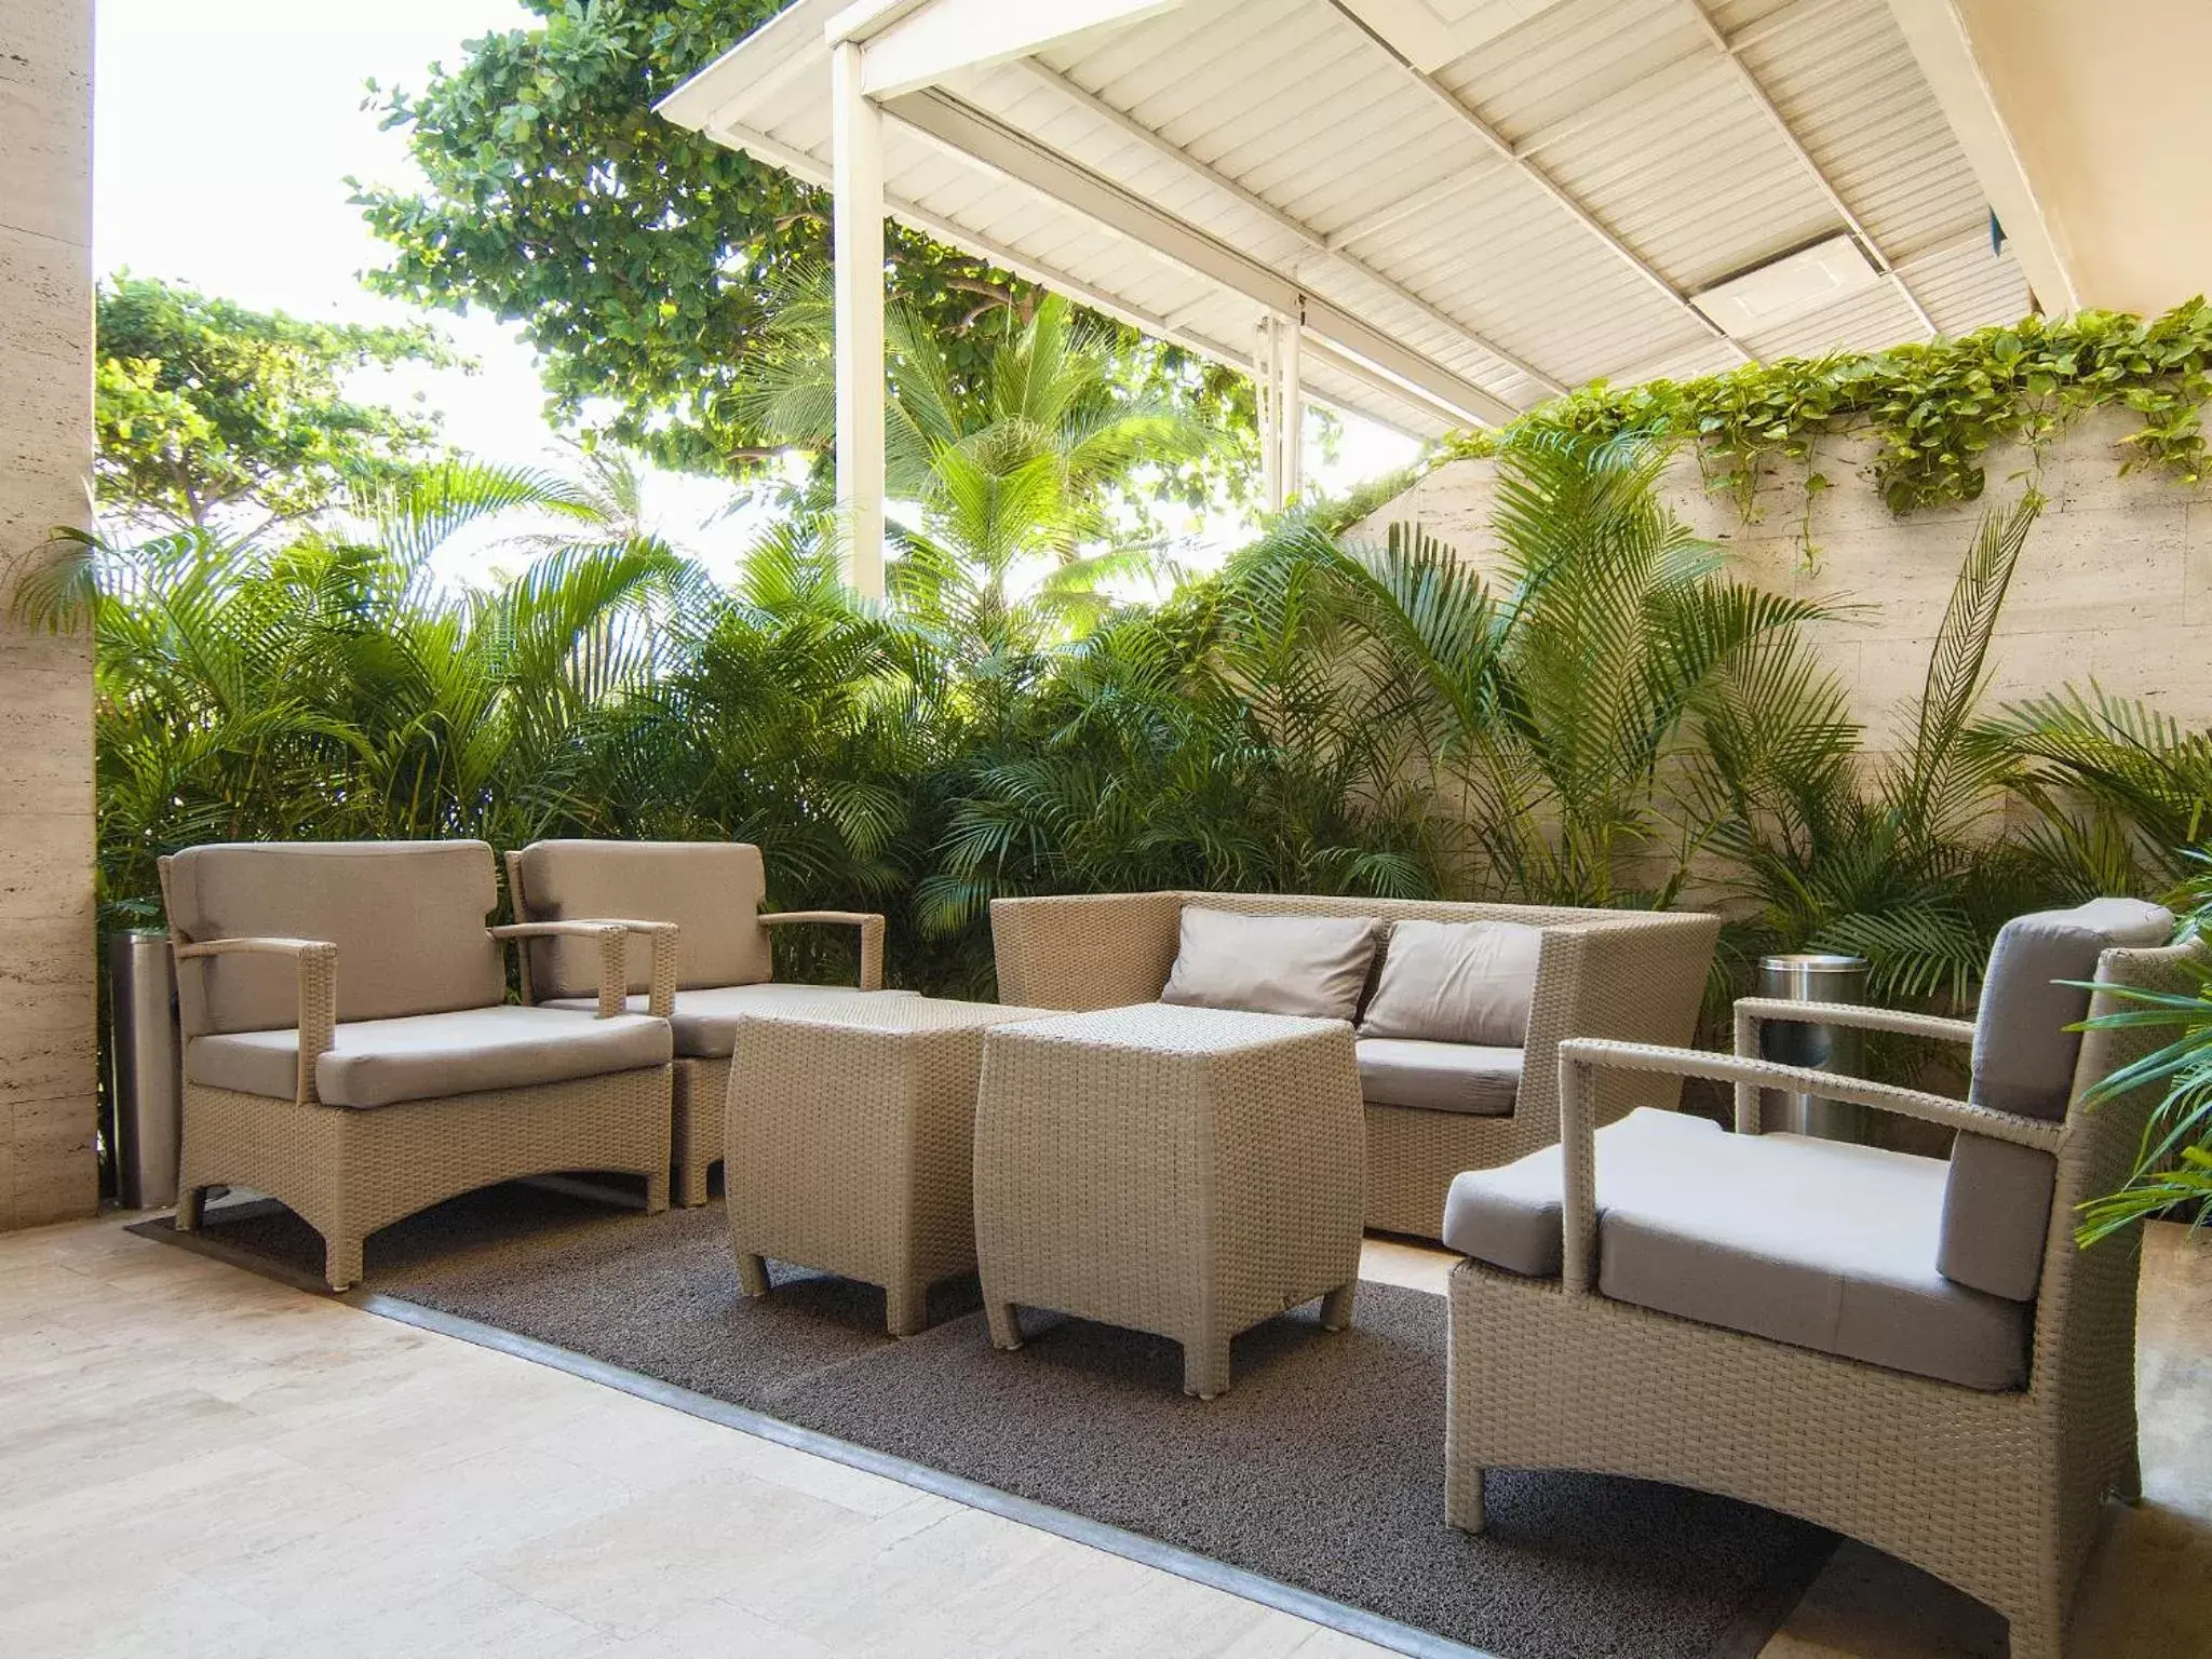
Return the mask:
[[[668,1208],[670,1033],[622,1011],[624,951],[675,929],[484,927],[480,841],[190,847],[161,860],[184,1029],[177,1225],[246,1186],[323,1234],[325,1279],[361,1279],[367,1234],[471,1188],[557,1170],[646,1177]],[[507,1004],[502,945],[588,951],[584,1013]],[[666,1002],[666,991],[661,991]]]

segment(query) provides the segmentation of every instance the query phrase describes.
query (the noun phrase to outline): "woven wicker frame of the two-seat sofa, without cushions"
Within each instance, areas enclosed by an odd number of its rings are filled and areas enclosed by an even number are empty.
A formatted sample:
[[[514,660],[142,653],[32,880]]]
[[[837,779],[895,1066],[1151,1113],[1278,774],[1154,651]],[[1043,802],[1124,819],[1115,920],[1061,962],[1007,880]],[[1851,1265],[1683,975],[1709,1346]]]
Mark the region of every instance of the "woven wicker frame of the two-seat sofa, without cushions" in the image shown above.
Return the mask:
[[[991,905],[998,993],[1042,1009],[1157,1002],[1175,967],[1183,905],[1250,916],[1374,916],[1436,922],[1524,922],[1542,929],[1528,1035],[1506,1110],[1427,1110],[1367,1102],[1367,1225],[1436,1239],[1444,1190],[1460,1170],[1511,1164],[1559,1139],[1559,1042],[1688,1042],[1705,991],[1714,916],[1453,905],[1283,894],[1104,894],[1000,898]],[[1385,947],[1387,953],[1387,947]],[[1378,953],[1380,960],[1383,953]],[[1371,1091],[1371,1044],[1363,1077]],[[1679,1084],[1606,1077],[1593,1110],[1610,1124],[1639,1104],[1674,1104]]]

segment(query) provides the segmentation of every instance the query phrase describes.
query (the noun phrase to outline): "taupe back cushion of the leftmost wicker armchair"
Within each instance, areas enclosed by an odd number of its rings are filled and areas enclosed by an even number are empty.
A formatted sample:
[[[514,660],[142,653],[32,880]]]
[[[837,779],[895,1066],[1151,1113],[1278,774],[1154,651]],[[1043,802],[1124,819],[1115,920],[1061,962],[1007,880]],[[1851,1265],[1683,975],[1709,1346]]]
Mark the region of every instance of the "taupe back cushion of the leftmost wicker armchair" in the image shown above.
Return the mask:
[[[507,971],[484,918],[500,902],[482,841],[327,841],[186,847],[168,865],[168,918],[188,940],[312,938],[338,947],[338,1020],[489,1009]],[[177,975],[188,1035],[281,1031],[299,969],[221,956]]]

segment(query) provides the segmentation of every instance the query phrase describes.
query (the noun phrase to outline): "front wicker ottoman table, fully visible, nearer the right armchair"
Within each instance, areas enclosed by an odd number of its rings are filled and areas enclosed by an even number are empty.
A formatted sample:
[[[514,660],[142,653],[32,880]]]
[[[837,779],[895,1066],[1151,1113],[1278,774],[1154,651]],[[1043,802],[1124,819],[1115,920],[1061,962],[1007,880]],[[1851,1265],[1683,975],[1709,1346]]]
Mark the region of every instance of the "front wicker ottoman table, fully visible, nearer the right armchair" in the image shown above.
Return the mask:
[[[1230,1338],[1360,1267],[1365,1137],[1352,1026],[1144,1004],[984,1040],[975,1254],[998,1347],[1015,1307],[1183,1345],[1183,1391],[1230,1385]]]

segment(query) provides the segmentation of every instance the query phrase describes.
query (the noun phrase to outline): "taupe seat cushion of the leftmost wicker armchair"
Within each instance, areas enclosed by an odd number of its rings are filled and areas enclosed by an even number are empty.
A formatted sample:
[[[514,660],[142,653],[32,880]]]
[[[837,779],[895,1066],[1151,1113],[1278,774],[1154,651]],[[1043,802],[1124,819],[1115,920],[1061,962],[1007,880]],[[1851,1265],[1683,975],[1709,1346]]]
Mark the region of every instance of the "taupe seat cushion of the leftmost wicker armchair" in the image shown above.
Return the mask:
[[[314,1062],[314,1088],[325,1106],[392,1106],[661,1066],[670,1053],[668,1022],[630,1013],[613,1020],[513,1006],[416,1013],[341,1024],[330,1053]],[[206,1088],[292,1099],[299,1033],[192,1037],[184,1073]]]

